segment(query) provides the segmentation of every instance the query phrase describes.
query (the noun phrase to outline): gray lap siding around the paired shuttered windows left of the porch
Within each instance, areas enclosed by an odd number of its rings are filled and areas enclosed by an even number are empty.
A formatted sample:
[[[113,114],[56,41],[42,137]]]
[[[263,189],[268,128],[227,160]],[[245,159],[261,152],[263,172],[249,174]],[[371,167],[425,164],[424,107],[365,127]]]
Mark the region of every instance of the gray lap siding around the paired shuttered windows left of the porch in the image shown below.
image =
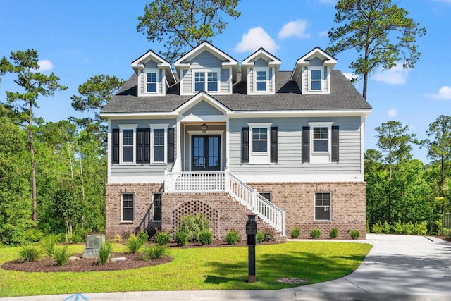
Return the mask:
[[[160,120],[132,120],[132,121],[111,121],[111,128],[118,128],[118,124],[125,125],[125,124],[137,124],[137,128],[149,128],[149,124],[161,124],[161,123],[168,123],[168,128],[175,127],[175,120],[169,120],[169,119],[160,119]],[[176,133],[177,130],[175,130],[175,143],[177,143],[177,136],[178,133]],[[111,141],[109,141],[111,144]],[[177,147],[175,147],[175,152],[177,150]],[[152,155],[152,149],[151,149],[151,155]],[[175,154],[175,157],[178,154]],[[111,162],[109,162],[111,164]],[[136,165],[120,165],[120,164],[113,164],[111,165],[111,176],[162,176],[164,174],[164,171],[168,168],[171,168],[173,164],[136,164]]]

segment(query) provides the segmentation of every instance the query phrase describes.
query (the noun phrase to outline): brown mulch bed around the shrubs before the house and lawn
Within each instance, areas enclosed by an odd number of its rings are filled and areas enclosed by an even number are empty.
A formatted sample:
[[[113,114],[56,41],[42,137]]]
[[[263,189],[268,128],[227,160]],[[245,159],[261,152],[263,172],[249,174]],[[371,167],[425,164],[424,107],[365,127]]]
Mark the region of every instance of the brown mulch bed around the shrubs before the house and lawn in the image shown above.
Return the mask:
[[[278,242],[263,242],[261,245],[272,245]],[[227,245],[226,242],[220,240],[214,240],[211,245],[201,245],[198,242],[190,243],[184,246],[178,246],[175,242],[169,242],[170,248],[190,248],[190,247],[239,247],[246,246],[246,241],[237,242],[235,245]],[[147,261],[142,260],[142,254],[133,253],[111,253],[110,258],[125,257],[127,260],[118,262],[108,262],[106,264],[97,264],[96,258],[82,258],[82,254],[74,254],[78,259],[70,260],[65,266],[58,266],[54,259],[49,257],[41,257],[35,262],[20,262],[19,260],[13,260],[11,262],[5,262],[1,265],[1,269],[12,271],[26,271],[26,272],[58,272],[58,271],[119,271],[126,269],[137,269],[144,266],[155,266],[158,264],[166,264],[172,261],[172,257],[165,256],[160,259],[149,259]]]

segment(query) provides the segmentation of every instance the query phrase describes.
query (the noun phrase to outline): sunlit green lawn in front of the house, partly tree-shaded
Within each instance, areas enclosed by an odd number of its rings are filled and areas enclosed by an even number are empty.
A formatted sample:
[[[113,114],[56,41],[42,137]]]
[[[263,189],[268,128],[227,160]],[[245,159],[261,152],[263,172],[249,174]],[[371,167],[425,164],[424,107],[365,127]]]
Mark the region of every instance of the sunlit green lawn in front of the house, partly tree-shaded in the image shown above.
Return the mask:
[[[82,252],[84,245],[70,246]],[[113,247],[119,251],[119,246]],[[346,242],[286,242],[257,245],[256,283],[247,283],[247,247],[170,250],[173,261],[125,271],[25,273],[0,269],[0,297],[142,290],[278,290],[340,278],[357,269],[371,245]],[[0,264],[18,258],[18,247],[0,248]]]

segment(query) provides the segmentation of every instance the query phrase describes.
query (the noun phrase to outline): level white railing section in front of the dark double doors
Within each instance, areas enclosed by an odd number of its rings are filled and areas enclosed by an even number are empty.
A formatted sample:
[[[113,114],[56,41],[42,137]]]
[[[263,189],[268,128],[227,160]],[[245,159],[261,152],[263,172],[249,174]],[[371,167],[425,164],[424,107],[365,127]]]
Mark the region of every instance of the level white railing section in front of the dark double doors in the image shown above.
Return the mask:
[[[166,192],[224,192],[224,172],[179,171],[166,172]]]

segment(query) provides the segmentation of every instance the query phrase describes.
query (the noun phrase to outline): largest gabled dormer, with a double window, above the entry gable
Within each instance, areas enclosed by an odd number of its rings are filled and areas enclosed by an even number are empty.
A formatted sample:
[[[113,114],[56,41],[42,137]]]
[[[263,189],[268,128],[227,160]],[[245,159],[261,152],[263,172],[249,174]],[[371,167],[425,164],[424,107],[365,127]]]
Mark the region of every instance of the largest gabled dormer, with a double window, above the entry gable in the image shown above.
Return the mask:
[[[232,84],[237,80],[238,61],[202,42],[174,63],[180,76],[180,95],[201,91],[209,94],[232,94]]]

